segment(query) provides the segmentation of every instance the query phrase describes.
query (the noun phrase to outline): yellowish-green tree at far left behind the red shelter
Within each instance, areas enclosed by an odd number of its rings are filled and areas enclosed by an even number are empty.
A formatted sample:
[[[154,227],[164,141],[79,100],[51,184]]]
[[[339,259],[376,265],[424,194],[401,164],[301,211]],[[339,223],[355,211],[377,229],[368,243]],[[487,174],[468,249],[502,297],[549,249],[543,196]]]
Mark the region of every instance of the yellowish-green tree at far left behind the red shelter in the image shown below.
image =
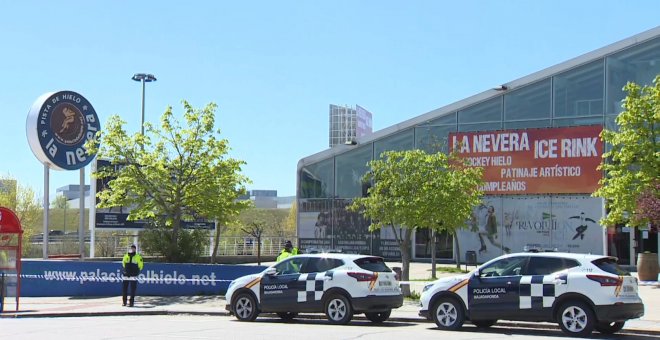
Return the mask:
[[[42,226],[41,214],[43,209],[34,189],[21,185],[10,176],[0,176],[0,206],[9,208],[21,221],[23,228],[23,255],[30,252],[31,243],[28,242],[33,235],[37,234]]]

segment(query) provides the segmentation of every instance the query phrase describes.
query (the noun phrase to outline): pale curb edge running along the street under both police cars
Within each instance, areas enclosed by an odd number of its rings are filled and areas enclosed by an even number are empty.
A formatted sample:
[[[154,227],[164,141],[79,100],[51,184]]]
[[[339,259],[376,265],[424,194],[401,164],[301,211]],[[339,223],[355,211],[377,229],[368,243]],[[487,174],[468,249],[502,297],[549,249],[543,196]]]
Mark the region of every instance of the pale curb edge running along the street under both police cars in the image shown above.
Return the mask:
[[[0,314],[0,319],[27,319],[27,318],[76,318],[76,317],[103,317],[103,316],[127,316],[127,315],[144,315],[144,316],[154,316],[154,315],[197,315],[197,316],[231,316],[229,312],[219,311],[219,312],[200,312],[200,311],[176,311],[176,310],[162,310],[162,311],[122,311],[122,312],[72,312],[72,313],[39,313],[39,314],[30,314],[30,313],[3,313]],[[272,318],[277,318],[277,315],[274,313],[263,313],[263,316],[269,316]],[[325,315],[323,314],[301,314],[297,318],[299,319],[308,319],[308,320],[325,320]],[[368,321],[368,319],[362,315],[356,315],[353,317],[353,320]],[[390,317],[388,321],[393,322],[402,322],[402,323],[429,323],[432,324],[432,321],[419,318],[411,317]],[[469,323],[469,321],[468,321]],[[510,327],[510,328],[529,328],[529,329],[548,329],[548,330],[560,330],[559,326],[552,323],[536,323],[536,322],[519,322],[519,321],[498,321],[498,326]],[[653,335],[660,336],[660,331],[648,330],[648,329],[638,329],[638,328],[629,328],[622,329],[616,334],[622,335]]]

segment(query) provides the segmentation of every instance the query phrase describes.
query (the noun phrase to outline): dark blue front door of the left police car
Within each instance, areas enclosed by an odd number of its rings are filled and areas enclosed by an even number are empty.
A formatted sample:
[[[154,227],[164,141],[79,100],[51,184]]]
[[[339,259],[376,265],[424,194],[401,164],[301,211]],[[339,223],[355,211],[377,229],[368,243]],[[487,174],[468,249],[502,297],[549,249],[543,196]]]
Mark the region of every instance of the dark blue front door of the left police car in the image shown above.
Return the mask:
[[[261,310],[264,312],[296,312],[298,277],[308,258],[292,257],[275,266],[274,275],[261,279]]]

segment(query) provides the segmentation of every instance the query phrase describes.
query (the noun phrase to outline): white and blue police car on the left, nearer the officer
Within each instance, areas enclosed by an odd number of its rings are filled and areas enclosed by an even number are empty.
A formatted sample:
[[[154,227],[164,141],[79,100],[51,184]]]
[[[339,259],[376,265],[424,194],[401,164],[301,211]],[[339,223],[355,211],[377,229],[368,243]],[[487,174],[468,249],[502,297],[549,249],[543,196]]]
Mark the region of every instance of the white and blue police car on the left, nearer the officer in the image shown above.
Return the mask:
[[[262,312],[285,320],[322,312],[334,324],[350,322],[355,313],[383,322],[403,304],[395,274],[382,258],[349,254],[289,257],[232,281],[226,299],[225,308],[241,321]]]

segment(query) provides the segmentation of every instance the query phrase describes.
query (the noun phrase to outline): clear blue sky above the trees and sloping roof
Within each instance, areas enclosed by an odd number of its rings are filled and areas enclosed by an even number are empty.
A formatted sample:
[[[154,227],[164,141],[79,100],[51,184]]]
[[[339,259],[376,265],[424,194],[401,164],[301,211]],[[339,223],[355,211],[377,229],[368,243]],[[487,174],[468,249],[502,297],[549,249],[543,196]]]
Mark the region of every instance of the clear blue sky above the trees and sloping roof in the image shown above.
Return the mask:
[[[25,123],[43,93],[71,90],[140,127],[167,106],[218,104],[249,189],[295,195],[296,165],[328,147],[328,105],[374,130],[660,24],[660,1],[0,0],[0,175],[43,193]],[[50,192],[78,171],[51,171]],[[89,175],[87,175],[89,180]]]

